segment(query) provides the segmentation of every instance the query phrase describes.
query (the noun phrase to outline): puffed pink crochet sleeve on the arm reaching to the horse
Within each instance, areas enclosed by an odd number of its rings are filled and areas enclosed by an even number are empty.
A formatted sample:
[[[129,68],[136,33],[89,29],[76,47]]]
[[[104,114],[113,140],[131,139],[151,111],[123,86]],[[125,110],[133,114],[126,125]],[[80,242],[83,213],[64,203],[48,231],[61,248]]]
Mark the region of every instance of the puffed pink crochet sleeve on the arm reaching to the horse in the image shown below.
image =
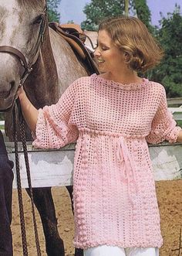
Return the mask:
[[[39,109],[35,130],[36,148],[61,148],[76,142],[79,131],[70,121],[76,98],[76,84],[71,84],[57,104]]]

